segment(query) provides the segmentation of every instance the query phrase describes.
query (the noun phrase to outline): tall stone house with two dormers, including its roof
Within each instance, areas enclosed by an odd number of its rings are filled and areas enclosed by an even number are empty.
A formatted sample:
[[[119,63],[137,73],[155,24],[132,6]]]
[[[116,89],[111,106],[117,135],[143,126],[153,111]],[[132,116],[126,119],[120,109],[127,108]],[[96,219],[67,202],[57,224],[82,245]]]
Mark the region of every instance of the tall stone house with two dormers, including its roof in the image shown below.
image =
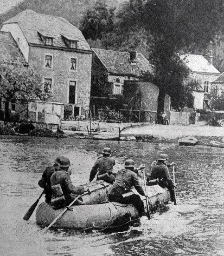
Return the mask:
[[[51,88],[52,101],[68,115],[86,115],[90,105],[92,51],[79,29],[61,17],[25,10],[5,21],[26,62]]]

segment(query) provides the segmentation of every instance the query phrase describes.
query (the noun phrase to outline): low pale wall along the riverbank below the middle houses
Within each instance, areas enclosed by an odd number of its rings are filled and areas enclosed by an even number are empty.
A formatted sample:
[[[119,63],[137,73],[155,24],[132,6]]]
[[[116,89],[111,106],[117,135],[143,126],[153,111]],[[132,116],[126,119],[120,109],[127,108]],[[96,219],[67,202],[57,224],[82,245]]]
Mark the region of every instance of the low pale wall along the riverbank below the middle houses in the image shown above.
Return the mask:
[[[122,130],[126,127],[131,127],[135,125],[140,125],[143,123],[106,123],[106,122],[91,122],[91,129],[97,129],[104,132],[119,132],[119,127]],[[90,129],[89,121],[62,121],[61,128],[63,130],[72,131],[87,131],[87,126]]]

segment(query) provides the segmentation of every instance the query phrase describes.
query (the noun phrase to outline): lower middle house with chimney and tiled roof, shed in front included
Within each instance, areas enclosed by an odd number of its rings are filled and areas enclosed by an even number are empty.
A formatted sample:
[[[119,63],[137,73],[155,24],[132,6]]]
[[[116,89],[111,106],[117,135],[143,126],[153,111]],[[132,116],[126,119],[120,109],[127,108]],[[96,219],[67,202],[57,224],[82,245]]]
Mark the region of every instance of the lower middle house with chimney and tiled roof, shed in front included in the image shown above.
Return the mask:
[[[117,109],[122,114],[135,113],[141,121],[154,121],[159,88],[151,82],[140,82],[153,66],[135,51],[93,50],[90,106]],[[166,95],[165,111],[170,115],[170,97]],[[139,113],[142,113],[141,116]],[[141,117],[141,118],[140,118]]]

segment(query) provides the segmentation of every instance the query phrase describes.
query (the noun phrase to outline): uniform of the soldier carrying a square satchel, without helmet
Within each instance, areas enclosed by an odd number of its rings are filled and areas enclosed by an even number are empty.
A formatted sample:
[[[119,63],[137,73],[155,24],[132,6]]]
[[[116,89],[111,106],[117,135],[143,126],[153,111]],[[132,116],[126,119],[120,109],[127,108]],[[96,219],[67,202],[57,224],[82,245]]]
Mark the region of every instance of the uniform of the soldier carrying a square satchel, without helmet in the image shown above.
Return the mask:
[[[51,176],[51,186],[61,185],[66,204],[69,205],[77,195],[83,194],[86,189],[83,186],[73,186],[70,175],[67,171],[58,170]]]

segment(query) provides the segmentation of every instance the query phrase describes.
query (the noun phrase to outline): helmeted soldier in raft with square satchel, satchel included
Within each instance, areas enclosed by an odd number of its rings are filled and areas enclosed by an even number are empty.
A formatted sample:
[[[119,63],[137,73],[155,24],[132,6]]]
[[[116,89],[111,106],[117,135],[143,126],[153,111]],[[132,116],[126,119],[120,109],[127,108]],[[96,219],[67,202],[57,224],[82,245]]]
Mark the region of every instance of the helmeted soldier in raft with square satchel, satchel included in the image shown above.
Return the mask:
[[[52,195],[51,204],[55,208],[69,205],[77,195],[82,195],[88,191],[87,186],[74,186],[71,182],[70,160],[66,157],[60,158],[58,162],[59,170],[54,172],[51,176]]]

